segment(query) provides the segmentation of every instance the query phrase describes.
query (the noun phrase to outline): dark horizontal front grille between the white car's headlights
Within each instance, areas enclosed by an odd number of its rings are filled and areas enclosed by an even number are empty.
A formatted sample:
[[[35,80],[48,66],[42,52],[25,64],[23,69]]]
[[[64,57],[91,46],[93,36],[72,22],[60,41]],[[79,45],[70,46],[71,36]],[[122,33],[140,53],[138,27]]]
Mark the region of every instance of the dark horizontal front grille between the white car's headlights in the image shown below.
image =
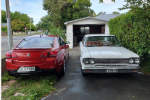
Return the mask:
[[[95,63],[128,63],[128,59],[95,59]]]

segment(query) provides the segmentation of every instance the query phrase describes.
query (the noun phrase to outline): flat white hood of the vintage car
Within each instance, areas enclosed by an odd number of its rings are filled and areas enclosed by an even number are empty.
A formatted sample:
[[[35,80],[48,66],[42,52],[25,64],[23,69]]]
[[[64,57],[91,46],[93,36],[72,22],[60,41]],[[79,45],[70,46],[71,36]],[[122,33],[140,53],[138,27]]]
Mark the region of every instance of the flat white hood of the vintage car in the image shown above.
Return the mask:
[[[91,58],[130,58],[139,57],[124,47],[87,47]]]

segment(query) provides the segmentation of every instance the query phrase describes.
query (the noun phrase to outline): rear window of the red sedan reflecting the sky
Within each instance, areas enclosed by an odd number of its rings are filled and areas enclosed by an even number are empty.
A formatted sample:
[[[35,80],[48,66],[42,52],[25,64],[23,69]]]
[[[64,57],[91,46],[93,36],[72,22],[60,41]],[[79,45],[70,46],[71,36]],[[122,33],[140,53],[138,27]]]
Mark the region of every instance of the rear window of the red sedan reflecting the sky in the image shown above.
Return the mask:
[[[24,39],[17,48],[53,47],[54,37],[34,37]]]

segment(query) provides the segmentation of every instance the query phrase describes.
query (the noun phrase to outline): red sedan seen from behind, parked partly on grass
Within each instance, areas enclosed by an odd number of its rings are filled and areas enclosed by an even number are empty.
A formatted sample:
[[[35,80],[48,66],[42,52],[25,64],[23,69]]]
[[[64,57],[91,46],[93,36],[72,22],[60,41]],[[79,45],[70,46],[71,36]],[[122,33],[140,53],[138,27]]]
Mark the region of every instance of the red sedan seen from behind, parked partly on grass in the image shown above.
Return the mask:
[[[34,35],[23,39],[6,53],[6,69],[10,75],[65,74],[69,58],[69,42],[58,35]]]

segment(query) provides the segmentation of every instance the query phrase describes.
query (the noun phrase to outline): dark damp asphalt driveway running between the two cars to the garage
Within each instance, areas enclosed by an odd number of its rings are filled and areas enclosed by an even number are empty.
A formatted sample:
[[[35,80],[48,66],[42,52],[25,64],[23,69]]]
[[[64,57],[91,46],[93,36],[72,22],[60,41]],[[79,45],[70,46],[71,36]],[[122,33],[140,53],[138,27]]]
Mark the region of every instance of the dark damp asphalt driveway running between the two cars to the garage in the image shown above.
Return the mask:
[[[150,76],[144,74],[81,75],[79,47],[70,50],[66,74],[57,90],[42,100],[150,100]]]

